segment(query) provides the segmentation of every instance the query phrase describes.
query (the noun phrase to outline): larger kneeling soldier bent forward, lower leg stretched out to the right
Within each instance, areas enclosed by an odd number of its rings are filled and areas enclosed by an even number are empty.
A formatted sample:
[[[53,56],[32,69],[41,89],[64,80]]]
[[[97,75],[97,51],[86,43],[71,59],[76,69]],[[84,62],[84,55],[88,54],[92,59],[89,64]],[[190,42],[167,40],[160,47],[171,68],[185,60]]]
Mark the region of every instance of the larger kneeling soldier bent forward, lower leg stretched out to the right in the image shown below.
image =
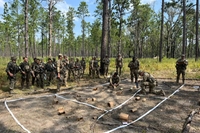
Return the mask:
[[[161,89],[160,91],[155,90],[155,86],[157,86],[156,79],[148,72],[139,71],[138,72],[140,76],[143,77],[140,86],[141,86],[141,92],[146,95],[145,88],[149,87],[149,93],[156,94],[156,95],[162,95],[165,96],[165,92]]]

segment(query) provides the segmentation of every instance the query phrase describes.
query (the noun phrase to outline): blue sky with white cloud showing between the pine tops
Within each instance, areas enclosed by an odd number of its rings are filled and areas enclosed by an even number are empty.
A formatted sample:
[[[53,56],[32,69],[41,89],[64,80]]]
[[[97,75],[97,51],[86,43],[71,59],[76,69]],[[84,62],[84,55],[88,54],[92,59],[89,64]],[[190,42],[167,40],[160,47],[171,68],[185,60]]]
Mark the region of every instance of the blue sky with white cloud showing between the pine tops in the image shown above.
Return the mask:
[[[12,0],[0,0],[0,14],[3,13],[3,7],[4,7],[4,3],[5,2],[8,2],[8,1],[12,1]],[[95,18],[93,16],[93,12],[96,8],[96,0],[63,0],[61,2],[58,2],[56,4],[56,7],[61,10],[62,12],[67,12],[68,8],[69,7],[73,7],[75,9],[78,8],[79,4],[81,1],[85,1],[88,5],[88,10],[90,12],[90,17],[87,17],[86,18],[86,22],[90,22],[92,23]],[[165,0],[165,2],[167,2],[169,0]],[[159,11],[161,9],[161,0],[141,0],[141,3],[142,4],[145,4],[145,3],[149,3],[151,4],[152,8],[155,10],[155,11]],[[74,29],[74,32],[77,35],[81,35],[81,20],[76,18],[75,19],[75,29]]]

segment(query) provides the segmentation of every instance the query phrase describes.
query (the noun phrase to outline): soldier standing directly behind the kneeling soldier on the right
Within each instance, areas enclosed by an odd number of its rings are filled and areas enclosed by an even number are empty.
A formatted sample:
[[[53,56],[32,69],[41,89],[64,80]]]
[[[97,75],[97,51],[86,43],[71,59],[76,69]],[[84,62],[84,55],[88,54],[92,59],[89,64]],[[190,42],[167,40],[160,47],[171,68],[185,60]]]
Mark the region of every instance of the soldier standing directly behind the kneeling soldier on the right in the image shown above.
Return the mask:
[[[135,84],[138,88],[138,70],[139,70],[140,63],[136,57],[132,58],[132,61],[129,62],[128,67],[130,68],[130,75],[131,75],[131,83],[133,83],[133,77],[135,77]]]

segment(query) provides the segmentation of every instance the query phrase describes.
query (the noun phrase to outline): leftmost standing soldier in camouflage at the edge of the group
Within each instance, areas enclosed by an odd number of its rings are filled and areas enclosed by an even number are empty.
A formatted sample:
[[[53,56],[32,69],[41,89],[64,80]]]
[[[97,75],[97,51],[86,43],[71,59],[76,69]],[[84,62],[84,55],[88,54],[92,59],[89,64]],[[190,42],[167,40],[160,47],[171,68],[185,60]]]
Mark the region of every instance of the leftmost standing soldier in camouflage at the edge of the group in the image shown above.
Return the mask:
[[[11,57],[11,61],[7,64],[6,73],[8,75],[9,93],[11,94],[16,84],[16,74],[19,72],[19,67],[16,64],[16,57]]]

